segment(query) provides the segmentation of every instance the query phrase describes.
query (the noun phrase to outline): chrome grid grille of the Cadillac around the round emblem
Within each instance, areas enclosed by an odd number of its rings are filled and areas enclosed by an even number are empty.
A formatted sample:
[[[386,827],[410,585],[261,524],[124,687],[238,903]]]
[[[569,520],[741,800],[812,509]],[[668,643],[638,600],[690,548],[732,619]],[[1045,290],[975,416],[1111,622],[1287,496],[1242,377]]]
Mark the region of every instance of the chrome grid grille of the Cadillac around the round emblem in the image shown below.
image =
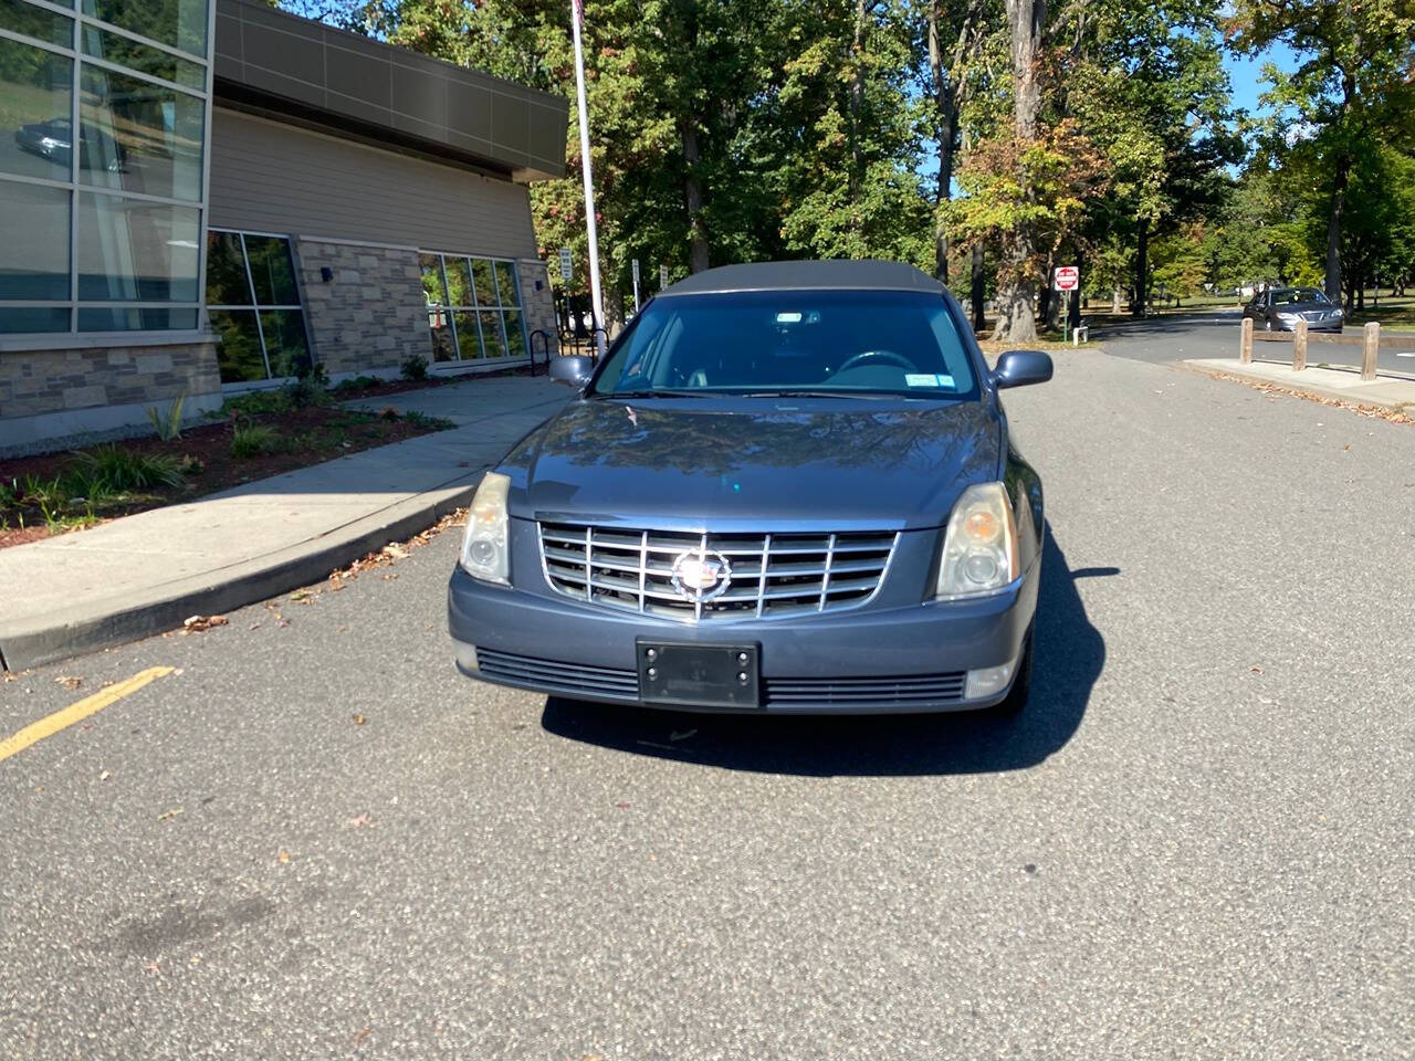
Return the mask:
[[[688,622],[785,618],[856,608],[889,569],[897,535],[685,533],[541,523],[550,589],[607,608]],[[720,556],[732,574],[720,596],[691,600],[674,586],[679,557]]]

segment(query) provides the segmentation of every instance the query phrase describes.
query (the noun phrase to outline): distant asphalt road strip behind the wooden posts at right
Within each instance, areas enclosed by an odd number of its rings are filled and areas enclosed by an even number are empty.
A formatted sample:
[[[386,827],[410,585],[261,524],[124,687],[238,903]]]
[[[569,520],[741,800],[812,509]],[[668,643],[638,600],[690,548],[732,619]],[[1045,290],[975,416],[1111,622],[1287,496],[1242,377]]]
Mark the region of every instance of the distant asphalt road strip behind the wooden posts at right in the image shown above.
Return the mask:
[[[1092,328],[1092,338],[1099,340],[1107,354],[1152,364],[1186,361],[1189,358],[1237,358],[1242,313],[1231,310],[1196,310],[1184,314],[1165,314],[1142,321],[1121,324],[1099,324]],[[1347,328],[1344,338],[1360,338],[1360,328]],[[1388,334],[1391,338],[1394,332]],[[1381,344],[1377,368],[1381,372],[1415,376],[1415,335],[1401,335],[1405,344]],[[1292,364],[1290,337],[1285,342],[1257,340],[1252,355],[1258,361]],[[1307,344],[1307,364],[1351,365],[1360,368],[1361,347],[1322,342],[1313,338]]]

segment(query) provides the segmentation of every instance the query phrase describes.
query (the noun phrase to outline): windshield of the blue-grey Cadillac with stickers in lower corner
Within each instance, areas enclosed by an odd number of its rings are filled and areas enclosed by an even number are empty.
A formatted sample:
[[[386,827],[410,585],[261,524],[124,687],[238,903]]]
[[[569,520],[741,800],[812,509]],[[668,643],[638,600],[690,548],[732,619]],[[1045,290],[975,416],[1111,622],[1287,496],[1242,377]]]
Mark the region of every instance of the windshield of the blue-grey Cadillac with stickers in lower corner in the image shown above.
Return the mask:
[[[593,395],[976,395],[940,294],[743,291],[655,298]]]

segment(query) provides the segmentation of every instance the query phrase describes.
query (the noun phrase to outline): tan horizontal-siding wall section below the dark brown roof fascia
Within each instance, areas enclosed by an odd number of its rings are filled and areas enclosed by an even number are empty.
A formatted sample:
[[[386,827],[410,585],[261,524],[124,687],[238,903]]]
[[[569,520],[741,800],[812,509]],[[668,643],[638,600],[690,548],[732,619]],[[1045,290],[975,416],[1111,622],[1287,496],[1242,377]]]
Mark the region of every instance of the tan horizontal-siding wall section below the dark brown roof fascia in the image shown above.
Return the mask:
[[[225,108],[212,110],[211,224],[535,257],[525,187]]]

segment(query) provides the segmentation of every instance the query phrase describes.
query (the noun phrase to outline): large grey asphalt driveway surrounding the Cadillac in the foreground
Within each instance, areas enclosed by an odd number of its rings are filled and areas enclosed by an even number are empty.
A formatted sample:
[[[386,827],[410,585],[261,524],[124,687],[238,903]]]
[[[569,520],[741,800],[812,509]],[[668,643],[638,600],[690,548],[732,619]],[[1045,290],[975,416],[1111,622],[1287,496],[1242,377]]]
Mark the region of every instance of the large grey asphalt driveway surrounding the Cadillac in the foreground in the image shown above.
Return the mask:
[[[1016,721],[467,682],[454,533],[0,685],[178,668],[0,761],[0,1057],[1415,1057],[1415,429],[1088,351],[1007,405]]]

